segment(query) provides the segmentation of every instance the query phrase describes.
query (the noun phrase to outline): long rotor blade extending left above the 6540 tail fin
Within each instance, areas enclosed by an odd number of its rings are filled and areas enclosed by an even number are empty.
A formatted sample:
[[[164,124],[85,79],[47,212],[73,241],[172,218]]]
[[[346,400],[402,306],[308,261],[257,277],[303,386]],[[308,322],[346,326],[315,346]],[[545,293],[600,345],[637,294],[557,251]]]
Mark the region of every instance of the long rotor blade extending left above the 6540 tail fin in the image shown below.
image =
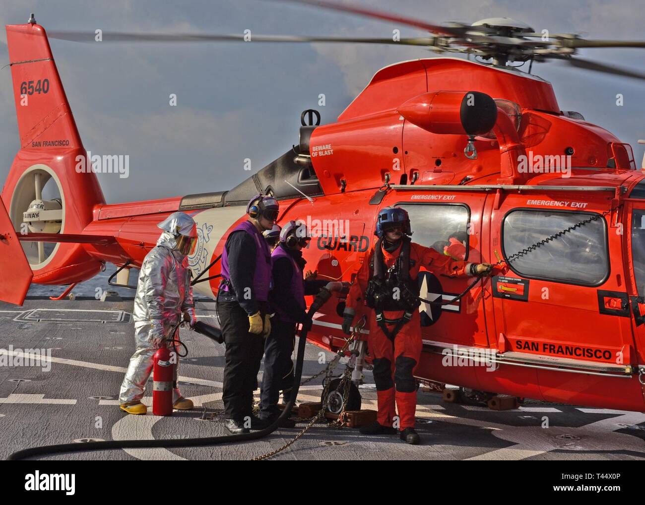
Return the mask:
[[[94,32],[49,32],[50,39],[72,42],[95,42]],[[249,39],[250,37],[250,39]],[[220,34],[138,34],[135,32],[103,32],[102,42],[304,42],[304,43],[357,43],[404,46],[434,46],[434,37],[406,37],[399,41],[383,38],[306,37],[300,35],[220,35]]]

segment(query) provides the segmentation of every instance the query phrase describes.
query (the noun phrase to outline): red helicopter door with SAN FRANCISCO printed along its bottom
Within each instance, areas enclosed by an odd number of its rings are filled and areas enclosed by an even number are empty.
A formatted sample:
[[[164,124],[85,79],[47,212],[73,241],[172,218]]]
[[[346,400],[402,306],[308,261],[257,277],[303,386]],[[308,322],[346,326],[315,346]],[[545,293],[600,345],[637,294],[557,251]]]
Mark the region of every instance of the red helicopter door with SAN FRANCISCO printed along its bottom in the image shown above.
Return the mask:
[[[634,352],[612,199],[582,187],[511,191],[487,201],[490,258],[507,260],[490,281],[501,362],[533,369],[546,401],[565,389],[571,403],[593,404],[624,382],[602,375],[624,375]]]

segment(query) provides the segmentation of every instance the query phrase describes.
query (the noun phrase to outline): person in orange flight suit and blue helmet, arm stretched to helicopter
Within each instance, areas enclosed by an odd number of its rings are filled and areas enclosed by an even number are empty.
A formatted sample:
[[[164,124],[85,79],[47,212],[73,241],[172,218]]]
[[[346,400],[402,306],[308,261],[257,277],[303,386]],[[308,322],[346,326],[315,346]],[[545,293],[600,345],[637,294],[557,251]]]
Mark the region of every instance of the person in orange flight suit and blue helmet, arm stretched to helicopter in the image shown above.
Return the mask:
[[[455,261],[432,248],[413,243],[409,237],[412,235],[410,217],[402,208],[381,210],[375,235],[379,240],[350,288],[342,323],[343,332],[349,335],[357,306],[364,303],[372,308],[368,349],[373,357],[379,412],[377,421],[361,428],[361,433],[397,433],[393,424],[396,403],[401,439],[418,444],[419,435],[414,430],[417,387],[413,372],[423,345],[419,268],[449,277],[467,277],[488,275],[492,266]]]

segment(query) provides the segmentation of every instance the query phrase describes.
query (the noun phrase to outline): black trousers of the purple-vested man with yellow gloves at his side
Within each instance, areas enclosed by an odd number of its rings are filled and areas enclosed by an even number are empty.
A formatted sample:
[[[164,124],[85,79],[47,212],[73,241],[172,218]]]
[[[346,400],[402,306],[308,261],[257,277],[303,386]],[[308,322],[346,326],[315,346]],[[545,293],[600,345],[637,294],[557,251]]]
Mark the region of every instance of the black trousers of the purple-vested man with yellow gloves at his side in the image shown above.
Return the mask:
[[[217,313],[226,344],[224,410],[227,419],[244,422],[244,417],[252,415],[253,391],[257,388],[264,338],[261,334],[248,332],[248,314],[237,302],[219,302]]]

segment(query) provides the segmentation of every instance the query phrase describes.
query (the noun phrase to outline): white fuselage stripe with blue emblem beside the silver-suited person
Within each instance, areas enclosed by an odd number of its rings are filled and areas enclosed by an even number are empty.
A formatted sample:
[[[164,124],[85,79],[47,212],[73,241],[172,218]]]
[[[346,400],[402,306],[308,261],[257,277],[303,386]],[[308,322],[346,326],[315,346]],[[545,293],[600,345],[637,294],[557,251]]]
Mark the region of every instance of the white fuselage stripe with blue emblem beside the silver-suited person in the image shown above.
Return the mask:
[[[243,217],[245,211],[246,207],[244,205],[235,205],[232,207],[205,209],[193,216],[195,223],[197,223],[198,239],[195,253],[188,257],[188,261],[194,277],[199,275],[215,259],[213,258],[213,252],[217,245],[228,234],[231,226]],[[219,266],[213,266],[213,271],[215,270],[219,272]],[[206,272],[202,277],[208,277],[209,275],[211,274]],[[193,290],[200,295],[215,298],[215,293],[210,287],[210,281],[197,282]]]

